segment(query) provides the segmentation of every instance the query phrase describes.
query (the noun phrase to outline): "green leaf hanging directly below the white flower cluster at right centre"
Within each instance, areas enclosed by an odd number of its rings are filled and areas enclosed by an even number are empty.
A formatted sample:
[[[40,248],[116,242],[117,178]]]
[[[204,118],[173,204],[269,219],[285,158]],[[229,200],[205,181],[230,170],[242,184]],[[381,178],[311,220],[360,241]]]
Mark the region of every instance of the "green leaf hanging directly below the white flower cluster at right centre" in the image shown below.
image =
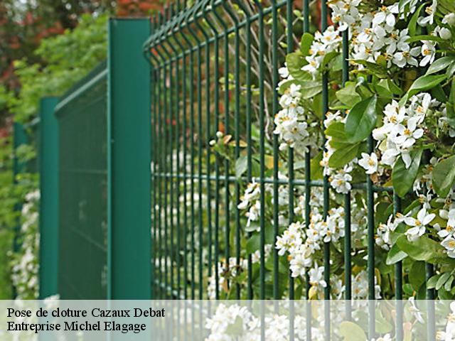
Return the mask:
[[[406,168],[402,157],[398,158],[392,170],[393,189],[400,197],[404,197],[412,188],[417,173],[419,172],[420,160],[422,159],[422,149],[411,153],[410,168]]]

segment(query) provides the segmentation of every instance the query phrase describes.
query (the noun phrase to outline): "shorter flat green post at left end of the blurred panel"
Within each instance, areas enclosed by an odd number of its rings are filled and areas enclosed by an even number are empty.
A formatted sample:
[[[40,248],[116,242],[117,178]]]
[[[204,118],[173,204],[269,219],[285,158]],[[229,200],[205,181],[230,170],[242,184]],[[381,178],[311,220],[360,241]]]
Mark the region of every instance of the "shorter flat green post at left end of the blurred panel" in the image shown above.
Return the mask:
[[[54,115],[57,97],[40,103],[40,299],[58,293],[58,123]]]

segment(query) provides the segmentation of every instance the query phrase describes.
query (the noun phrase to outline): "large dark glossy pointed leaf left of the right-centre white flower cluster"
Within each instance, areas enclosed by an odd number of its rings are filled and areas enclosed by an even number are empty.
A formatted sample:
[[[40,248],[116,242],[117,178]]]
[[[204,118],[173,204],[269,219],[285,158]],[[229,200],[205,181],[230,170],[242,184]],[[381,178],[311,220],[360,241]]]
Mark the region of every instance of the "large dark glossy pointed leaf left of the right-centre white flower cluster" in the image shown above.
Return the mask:
[[[349,142],[360,142],[366,139],[376,125],[376,96],[364,99],[355,104],[346,118],[345,131]]]

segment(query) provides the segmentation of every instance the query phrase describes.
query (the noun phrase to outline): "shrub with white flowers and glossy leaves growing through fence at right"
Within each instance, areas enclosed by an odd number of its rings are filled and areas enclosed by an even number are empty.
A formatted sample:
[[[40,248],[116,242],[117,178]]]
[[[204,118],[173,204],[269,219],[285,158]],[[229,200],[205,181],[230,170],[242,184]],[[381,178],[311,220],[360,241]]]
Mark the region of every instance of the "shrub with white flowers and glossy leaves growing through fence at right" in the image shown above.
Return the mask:
[[[304,33],[299,49],[287,55],[279,70],[280,109],[273,133],[281,151],[297,151],[295,165],[309,153],[311,180],[328,179],[329,210],[324,216],[323,190],[313,187],[305,222],[305,197],[296,188],[294,220],[289,222],[291,194],[287,185],[279,185],[279,237],[274,243],[279,264],[296,281],[297,298],[306,281],[310,298],[323,298],[328,285],[333,298],[342,298],[347,237],[343,205],[350,193],[353,298],[368,298],[367,197],[356,188],[369,178],[386,189],[374,193],[376,297],[395,296],[393,266],[402,261],[406,297],[422,298],[427,288],[436,288],[439,298],[453,298],[455,5],[448,0],[332,0],[328,6],[333,25]],[[344,81],[343,35],[349,65],[349,80]],[[323,77],[328,78],[327,112],[320,105]],[[215,148],[223,144],[223,134],[218,135]],[[280,178],[286,179],[281,173]],[[272,243],[269,186],[264,185],[264,220],[266,242]],[[396,214],[390,188],[401,199]],[[238,205],[247,219],[247,254],[259,249],[260,192],[258,183],[250,183]],[[323,276],[326,243],[331,283]],[[427,283],[425,262],[436,266]],[[221,268],[220,274],[228,271]],[[213,291],[213,283],[210,287]],[[280,289],[286,296],[286,289]]]

